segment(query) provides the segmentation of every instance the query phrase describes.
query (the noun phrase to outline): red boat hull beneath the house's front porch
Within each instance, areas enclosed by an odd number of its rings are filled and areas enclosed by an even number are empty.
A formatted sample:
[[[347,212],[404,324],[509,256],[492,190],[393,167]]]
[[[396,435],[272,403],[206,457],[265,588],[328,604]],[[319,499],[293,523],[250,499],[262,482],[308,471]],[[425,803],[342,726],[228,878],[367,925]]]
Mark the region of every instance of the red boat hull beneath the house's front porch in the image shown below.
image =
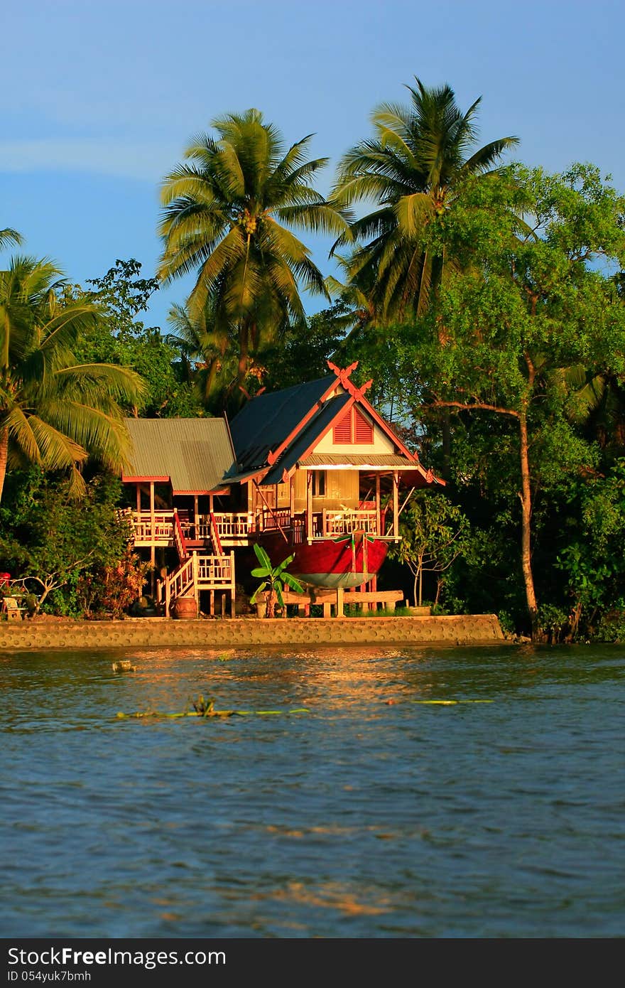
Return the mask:
[[[279,533],[264,533],[262,543],[273,565],[293,555],[289,573],[302,583],[335,590],[372,580],[388,550],[388,542],[361,533],[299,545],[287,545]]]

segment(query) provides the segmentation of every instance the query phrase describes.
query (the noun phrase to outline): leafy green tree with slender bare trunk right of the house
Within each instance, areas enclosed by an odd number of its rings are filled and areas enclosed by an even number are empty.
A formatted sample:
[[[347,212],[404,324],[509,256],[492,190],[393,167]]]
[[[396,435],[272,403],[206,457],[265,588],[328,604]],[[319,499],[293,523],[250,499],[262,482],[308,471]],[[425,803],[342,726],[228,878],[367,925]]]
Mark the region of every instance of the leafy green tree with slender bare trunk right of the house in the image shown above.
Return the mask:
[[[465,268],[450,276],[436,311],[415,324],[409,364],[421,379],[422,407],[508,423],[533,633],[534,499],[566,477],[592,473],[599,456],[570,421],[561,371],[625,373],[625,309],[606,277],[625,259],[624,215],[623,197],[591,166],[560,176],[517,167],[508,183],[469,184],[444,222],[430,226],[435,251],[448,245],[458,257],[479,257],[480,274]],[[444,338],[431,332],[436,320]]]

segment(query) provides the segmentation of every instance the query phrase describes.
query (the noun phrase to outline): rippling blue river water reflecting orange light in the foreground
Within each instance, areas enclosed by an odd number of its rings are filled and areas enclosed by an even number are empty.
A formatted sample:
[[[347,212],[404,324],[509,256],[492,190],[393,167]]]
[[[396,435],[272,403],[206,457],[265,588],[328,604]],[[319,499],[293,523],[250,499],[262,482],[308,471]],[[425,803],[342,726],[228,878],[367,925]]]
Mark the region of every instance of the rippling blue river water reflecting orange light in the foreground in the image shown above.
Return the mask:
[[[0,936],[621,937],[624,677],[616,645],[0,653]],[[309,712],[117,718],[199,693]]]

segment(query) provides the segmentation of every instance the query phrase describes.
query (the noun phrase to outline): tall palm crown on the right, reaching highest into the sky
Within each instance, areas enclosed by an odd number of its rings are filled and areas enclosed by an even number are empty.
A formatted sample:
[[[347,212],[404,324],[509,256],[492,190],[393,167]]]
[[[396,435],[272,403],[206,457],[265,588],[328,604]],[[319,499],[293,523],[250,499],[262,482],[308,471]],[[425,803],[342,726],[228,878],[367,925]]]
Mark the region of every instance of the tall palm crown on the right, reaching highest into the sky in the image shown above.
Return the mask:
[[[429,89],[415,81],[406,87],[409,107],[382,104],[374,111],[375,136],[344,155],[334,192],[338,206],[360,200],[377,206],[352,222],[358,245],[347,268],[382,323],[428,309],[445,259],[425,249],[425,227],[451,205],[466,178],[493,174],[504,151],[518,143],[502,137],[474,150],[481,97],[463,114],[448,85]],[[340,236],[333,252],[347,242]]]

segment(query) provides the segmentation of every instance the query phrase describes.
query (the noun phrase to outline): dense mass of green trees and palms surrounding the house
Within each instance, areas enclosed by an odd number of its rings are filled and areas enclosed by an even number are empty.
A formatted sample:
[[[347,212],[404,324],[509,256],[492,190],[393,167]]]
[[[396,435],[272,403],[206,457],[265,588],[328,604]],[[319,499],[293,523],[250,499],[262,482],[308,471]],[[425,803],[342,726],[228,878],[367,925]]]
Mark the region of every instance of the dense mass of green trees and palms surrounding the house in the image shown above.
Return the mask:
[[[70,288],[47,262],[7,262],[0,570],[35,607],[118,615],[140,590],[107,472],[123,416],[220,414],[332,359],[359,362],[447,481],[403,511],[389,579],[538,639],[625,637],[625,199],[591,165],[504,166],[516,138],[479,146],[479,100],[408,90],[327,199],[309,138],[286,147],[258,111],[216,120],[164,180],[155,278],[117,260]],[[341,283],[295,229],[338,238]],[[0,249],[21,242],[0,230]],[[152,292],[188,272],[166,331],[145,326]],[[302,288],[326,307],[306,317]]]

